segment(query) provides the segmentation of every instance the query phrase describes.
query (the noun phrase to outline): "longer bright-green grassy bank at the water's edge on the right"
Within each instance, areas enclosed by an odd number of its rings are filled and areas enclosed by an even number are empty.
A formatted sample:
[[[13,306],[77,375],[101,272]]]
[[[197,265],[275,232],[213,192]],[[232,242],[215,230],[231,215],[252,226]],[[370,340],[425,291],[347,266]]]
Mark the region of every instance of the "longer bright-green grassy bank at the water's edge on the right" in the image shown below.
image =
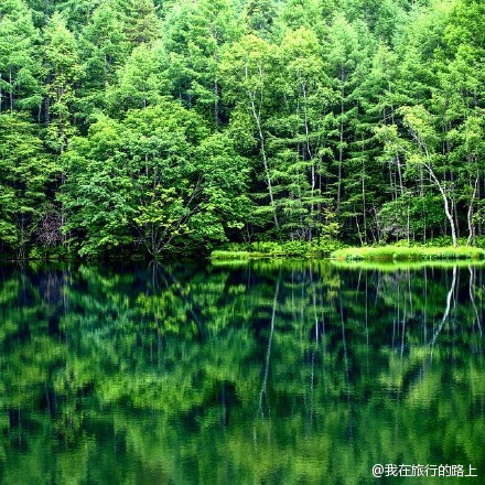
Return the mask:
[[[475,247],[401,247],[382,246],[345,248],[332,252],[340,261],[431,261],[456,259],[485,259],[485,250]]]

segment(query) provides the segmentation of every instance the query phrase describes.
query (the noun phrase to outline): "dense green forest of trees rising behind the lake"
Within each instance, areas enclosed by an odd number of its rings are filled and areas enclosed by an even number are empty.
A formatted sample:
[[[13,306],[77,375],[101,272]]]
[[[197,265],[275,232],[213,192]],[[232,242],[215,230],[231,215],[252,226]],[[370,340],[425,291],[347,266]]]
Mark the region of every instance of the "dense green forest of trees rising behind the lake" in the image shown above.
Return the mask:
[[[482,0],[2,0],[0,251],[478,244]]]

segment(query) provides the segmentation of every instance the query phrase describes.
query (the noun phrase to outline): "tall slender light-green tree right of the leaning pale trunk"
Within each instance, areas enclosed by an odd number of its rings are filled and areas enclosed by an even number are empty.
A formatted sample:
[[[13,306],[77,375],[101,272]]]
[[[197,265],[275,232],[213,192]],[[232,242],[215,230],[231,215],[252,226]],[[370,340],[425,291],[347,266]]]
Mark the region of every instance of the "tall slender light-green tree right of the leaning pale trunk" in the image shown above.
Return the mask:
[[[282,45],[278,84],[285,103],[268,122],[280,181],[278,206],[284,214],[287,235],[312,240],[320,235],[330,203],[323,195],[328,169],[325,158],[330,153],[325,117],[335,94],[312,30],[288,31]]]

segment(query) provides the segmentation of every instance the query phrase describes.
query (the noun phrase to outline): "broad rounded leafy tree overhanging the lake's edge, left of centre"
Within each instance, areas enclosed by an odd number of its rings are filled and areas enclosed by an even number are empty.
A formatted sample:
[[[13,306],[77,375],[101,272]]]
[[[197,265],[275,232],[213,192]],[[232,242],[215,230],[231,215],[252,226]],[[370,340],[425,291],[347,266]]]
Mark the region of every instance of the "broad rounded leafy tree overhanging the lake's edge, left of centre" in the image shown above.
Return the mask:
[[[72,142],[65,162],[65,230],[80,255],[134,242],[152,257],[203,250],[242,225],[244,160],[175,101],[131,110],[122,122],[99,118],[87,139]]]

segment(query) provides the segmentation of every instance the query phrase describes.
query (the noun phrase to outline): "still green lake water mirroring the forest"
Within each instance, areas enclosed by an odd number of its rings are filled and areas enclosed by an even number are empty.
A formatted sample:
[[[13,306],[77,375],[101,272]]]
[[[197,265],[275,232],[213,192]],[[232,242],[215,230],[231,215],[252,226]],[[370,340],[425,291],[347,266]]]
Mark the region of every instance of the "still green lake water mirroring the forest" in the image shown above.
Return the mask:
[[[0,268],[3,484],[484,483],[481,267]]]

